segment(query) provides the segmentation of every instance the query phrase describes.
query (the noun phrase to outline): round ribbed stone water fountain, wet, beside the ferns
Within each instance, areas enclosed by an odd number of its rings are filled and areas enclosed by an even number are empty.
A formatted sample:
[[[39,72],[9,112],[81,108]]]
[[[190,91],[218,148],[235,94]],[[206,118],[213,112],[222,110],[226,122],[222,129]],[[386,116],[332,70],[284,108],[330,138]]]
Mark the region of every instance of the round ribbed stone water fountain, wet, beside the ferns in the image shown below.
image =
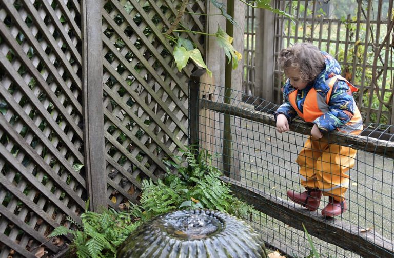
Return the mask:
[[[211,210],[181,210],[144,223],[126,239],[119,258],[263,257],[260,236],[237,217]]]

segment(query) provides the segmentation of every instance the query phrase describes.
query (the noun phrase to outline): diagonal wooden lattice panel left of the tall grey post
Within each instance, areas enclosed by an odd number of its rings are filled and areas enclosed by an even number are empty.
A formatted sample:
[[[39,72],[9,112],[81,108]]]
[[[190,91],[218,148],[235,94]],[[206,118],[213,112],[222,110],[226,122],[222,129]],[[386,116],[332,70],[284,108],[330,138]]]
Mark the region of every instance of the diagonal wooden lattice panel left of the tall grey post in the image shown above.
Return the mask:
[[[47,234],[64,224],[66,216],[80,221],[78,214],[85,207],[85,180],[73,168],[84,164],[78,126],[79,11],[56,1],[4,2],[0,66],[7,73],[0,77],[0,256],[7,256],[11,248],[34,256],[42,243],[47,252],[56,253],[59,248],[47,242]]]

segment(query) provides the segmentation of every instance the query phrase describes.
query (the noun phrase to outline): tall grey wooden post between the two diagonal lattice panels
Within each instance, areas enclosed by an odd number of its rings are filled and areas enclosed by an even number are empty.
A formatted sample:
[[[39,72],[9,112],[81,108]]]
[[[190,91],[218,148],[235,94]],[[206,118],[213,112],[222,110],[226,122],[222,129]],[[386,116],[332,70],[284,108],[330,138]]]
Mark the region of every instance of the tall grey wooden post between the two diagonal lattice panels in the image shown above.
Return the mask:
[[[107,174],[104,154],[102,1],[81,4],[83,28],[83,105],[86,188],[90,210],[106,209]]]

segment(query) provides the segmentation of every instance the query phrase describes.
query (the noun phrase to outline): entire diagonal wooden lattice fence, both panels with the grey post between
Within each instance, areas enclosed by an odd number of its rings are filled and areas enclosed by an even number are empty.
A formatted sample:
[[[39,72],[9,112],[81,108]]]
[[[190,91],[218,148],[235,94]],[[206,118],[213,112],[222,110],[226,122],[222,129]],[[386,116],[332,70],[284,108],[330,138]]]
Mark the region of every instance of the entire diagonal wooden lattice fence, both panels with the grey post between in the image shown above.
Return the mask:
[[[184,148],[195,66],[179,73],[163,35],[180,3],[0,1],[0,257],[59,252],[46,236],[80,223],[88,197],[137,203]],[[204,31],[202,17],[181,22]],[[181,35],[204,53],[202,36]]]

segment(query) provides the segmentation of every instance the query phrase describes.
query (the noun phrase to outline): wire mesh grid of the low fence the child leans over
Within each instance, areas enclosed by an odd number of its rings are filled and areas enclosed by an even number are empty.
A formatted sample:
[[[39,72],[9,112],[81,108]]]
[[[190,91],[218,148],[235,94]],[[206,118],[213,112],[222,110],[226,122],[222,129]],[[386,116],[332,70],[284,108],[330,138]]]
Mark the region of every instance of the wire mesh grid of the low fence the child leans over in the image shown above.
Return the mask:
[[[360,135],[330,133],[321,141],[357,149],[353,167],[349,165],[351,157],[342,156],[340,161],[338,155],[336,157],[350,180],[344,194],[347,210],[330,219],[321,214],[328,204],[327,196],[322,196],[320,206],[314,212],[294,204],[286,196],[287,190],[305,191],[300,184],[302,176],[296,160],[310,137],[310,124],[294,121],[288,133],[278,133],[272,115],[277,105],[235,90],[226,94],[225,88],[204,83],[199,86],[198,103],[190,103],[192,105],[198,105],[199,126],[190,128],[190,134],[198,132],[200,148],[220,154],[223,153],[223,143],[231,141],[231,164],[227,175],[239,181],[241,188],[265,196],[261,202],[267,202],[267,212],[256,210],[248,220],[269,246],[292,257],[309,255],[311,246],[305,232],[290,226],[301,218],[309,233],[319,235],[312,239],[322,257],[392,257],[394,135],[390,132],[394,126],[367,124]],[[230,116],[230,126],[225,124],[226,115]],[[193,119],[192,115],[190,119]],[[226,130],[231,132],[230,139],[224,138],[228,137],[224,136]],[[331,154],[335,156],[335,153]],[[213,165],[223,170],[226,167],[223,160],[228,158],[224,159],[223,154],[216,156],[219,158]],[[331,162],[334,160],[331,158]],[[329,164],[328,169],[331,167]],[[316,174],[320,172],[316,167],[314,170]],[[241,188],[234,188],[234,194],[238,195],[237,189]],[[260,198],[259,195],[252,197]],[[284,204],[289,209],[284,209]],[[372,235],[369,240],[368,235]],[[364,251],[354,251],[358,249]]]

